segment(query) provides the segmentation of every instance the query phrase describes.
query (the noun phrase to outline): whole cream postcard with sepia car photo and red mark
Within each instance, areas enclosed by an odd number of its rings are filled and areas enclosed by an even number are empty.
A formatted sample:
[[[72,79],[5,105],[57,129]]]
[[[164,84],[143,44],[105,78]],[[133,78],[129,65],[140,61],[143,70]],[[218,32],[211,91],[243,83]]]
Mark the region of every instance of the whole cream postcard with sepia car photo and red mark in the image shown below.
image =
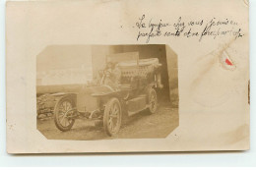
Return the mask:
[[[8,153],[247,150],[247,0],[6,3]]]

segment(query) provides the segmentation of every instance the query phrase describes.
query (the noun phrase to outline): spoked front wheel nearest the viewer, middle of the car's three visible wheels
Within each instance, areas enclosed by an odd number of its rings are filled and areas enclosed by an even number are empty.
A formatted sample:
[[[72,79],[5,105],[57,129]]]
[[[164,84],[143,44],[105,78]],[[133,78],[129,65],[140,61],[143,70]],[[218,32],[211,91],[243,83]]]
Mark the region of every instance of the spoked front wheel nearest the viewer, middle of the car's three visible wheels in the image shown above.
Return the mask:
[[[106,103],[103,116],[104,131],[108,136],[115,136],[119,132],[121,119],[122,108],[120,101],[116,97],[113,97]]]

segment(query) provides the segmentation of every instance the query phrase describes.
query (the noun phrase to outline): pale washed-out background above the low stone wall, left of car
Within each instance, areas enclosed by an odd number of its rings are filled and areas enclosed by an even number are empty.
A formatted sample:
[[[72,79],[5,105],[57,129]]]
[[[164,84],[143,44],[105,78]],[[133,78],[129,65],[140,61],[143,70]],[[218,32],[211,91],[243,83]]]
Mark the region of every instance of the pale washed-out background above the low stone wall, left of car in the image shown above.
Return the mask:
[[[92,81],[89,45],[50,45],[36,57],[36,85],[74,85]]]

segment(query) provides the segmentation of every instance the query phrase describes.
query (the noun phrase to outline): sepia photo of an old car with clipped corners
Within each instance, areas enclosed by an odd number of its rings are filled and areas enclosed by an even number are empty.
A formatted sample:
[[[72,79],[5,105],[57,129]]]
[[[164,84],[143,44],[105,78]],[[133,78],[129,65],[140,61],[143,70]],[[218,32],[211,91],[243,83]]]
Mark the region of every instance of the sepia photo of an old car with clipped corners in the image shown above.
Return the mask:
[[[178,107],[168,45],[49,45],[36,56],[36,124],[48,140],[166,138]]]

